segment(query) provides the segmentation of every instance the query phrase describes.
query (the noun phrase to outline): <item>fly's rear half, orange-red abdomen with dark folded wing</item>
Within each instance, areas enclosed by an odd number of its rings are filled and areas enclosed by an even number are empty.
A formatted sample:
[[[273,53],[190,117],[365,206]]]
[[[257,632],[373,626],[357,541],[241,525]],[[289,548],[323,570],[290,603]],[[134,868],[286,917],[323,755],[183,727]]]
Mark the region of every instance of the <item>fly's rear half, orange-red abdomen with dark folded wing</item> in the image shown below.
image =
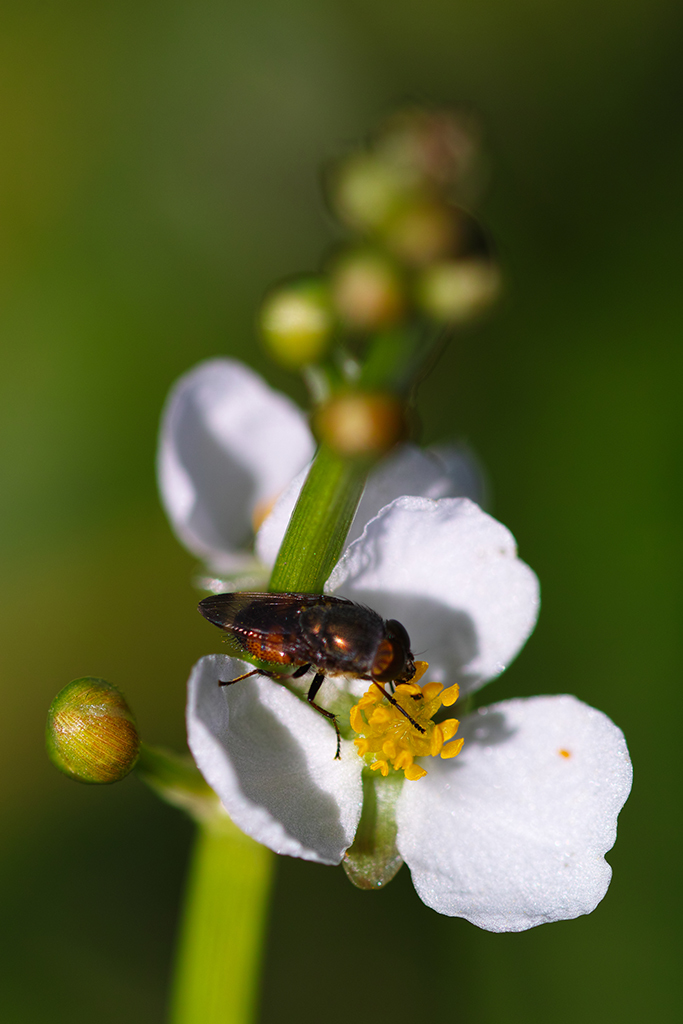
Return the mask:
[[[308,645],[301,628],[301,612],[321,603],[348,604],[341,598],[319,594],[215,594],[200,601],[199,610],[224,630],[250,659],[265,666],[301,666],[308,660]]]

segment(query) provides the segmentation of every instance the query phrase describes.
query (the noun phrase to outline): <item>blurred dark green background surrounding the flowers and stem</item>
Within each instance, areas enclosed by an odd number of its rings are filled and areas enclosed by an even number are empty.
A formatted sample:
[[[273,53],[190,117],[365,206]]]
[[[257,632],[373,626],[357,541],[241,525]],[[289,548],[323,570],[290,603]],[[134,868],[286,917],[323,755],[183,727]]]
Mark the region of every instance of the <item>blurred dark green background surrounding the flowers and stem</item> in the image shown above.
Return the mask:
[[[255,348],[256,305],[333,238],[322,163],[417,99],[479,115],[481,214],[509,283],[421,406],[424,440],[478,452],[544,588],[489,697],[602,709],[635,785],[604,902],[521,935],[439,918],[405,869],[367,894],[282,860],[261,1020],[678,1021],[680,6],[6,0],[3,14],[3,1019],[164,1019],[191,828],[135,779],[59,776],[45,712],[70,679],[103,676],[145,739],[182,744],[187,672],[216,640],[158,504],[162,402],[223,352],[301,396]]]

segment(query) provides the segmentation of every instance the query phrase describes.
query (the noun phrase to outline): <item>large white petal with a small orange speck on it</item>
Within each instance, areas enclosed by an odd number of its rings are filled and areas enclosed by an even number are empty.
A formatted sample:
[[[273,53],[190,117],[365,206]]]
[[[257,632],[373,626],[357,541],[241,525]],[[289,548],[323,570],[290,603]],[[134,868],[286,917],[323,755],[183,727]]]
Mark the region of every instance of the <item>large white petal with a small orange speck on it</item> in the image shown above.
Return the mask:
[[[620,729],[572,696],[504,700],[461,727],[455,761],[405,784],[397,845],[420,898],[490,932],[590,913],[631,790]]]

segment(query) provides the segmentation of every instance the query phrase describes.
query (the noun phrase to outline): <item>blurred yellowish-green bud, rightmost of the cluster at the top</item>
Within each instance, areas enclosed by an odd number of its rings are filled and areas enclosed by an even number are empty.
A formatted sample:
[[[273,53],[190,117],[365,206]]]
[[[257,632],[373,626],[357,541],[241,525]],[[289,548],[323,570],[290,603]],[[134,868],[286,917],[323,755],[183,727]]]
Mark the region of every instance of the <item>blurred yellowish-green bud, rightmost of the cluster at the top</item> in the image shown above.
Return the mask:
[[[426,267],[417,287],[418,302],[429,316],[464,324],[498,298],[501,275],[489,260],[445,260]]]

